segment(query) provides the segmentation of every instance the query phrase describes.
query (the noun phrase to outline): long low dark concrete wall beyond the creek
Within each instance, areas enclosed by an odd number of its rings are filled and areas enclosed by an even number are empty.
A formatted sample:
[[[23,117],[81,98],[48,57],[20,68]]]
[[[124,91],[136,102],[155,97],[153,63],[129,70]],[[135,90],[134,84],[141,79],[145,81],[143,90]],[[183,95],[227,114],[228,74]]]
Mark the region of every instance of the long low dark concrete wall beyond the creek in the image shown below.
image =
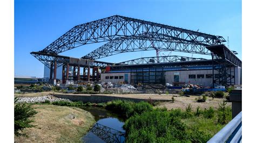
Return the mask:
[[[83,103],[91,102],[91,103],[103,103],[103,102],[109,102],[113,100],[129,100],[133,102],[141,102],[141,101],[147,101],[147,99],[138,99],[138,98],[127,98],[127,97],[114,97],[114,96],[105,96],[105,95],[53,95],[58,98],[66,98],[70,99],[71,101],[82,101]],[[153,102],[168,102],[171,100],[156,100],[152,99]]]

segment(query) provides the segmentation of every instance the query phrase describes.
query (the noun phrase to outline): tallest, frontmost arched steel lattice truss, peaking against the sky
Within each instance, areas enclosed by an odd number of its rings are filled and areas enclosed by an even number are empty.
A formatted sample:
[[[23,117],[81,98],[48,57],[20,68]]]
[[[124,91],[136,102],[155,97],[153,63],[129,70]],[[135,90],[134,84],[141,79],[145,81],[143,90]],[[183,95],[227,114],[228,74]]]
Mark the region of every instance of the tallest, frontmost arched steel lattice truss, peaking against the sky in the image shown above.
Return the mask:
[[[134,36],[140,37],[141,39],[152,38],[147,34],[141,37],[143,33],[150,32],[168,35],[173,38],[172,40],[177,40],[177,42],[187,41],[195,45],[217,45],[221,42],[225,42],[225,39],[221,36],[129,17],[111,16],[73,27],[41,52],[58,54],[82,45],[112,41],[120,37]]]

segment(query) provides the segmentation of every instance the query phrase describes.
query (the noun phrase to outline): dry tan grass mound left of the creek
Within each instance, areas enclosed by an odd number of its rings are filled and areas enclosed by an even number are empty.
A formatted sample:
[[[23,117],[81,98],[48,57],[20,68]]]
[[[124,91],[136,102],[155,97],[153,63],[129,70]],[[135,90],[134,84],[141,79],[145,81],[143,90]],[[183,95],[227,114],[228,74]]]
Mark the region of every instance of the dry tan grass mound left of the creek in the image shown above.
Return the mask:
[[[15,137],[15,142],[81,142],[95,123],[91,113],[68,106],[32,105],[38,111],[36,127],[26,128],[28,137]]]

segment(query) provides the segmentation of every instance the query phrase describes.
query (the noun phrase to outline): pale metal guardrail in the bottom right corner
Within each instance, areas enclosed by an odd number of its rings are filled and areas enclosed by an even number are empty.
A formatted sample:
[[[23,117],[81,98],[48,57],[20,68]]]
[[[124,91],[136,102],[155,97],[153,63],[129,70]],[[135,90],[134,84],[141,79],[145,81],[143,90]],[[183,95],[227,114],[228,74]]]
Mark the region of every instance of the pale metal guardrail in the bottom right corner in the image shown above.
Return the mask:
[[[208,143],[215,142],[241,142],[242,140],[242,111],[230,123],[215,134]]]

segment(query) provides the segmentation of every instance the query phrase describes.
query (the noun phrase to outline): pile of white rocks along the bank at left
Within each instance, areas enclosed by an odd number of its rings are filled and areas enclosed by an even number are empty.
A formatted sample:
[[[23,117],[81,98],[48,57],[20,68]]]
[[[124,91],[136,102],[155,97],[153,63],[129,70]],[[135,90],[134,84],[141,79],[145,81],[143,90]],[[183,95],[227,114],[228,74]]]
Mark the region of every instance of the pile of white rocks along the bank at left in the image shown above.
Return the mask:
[[[19,97],[17,103],[43,103],[45,101],[55,102],[55,101],[68,101],[71,102],[70,99],[65,98],[57,98],[52,95],[48,96],[40,96],[40,97]]]

